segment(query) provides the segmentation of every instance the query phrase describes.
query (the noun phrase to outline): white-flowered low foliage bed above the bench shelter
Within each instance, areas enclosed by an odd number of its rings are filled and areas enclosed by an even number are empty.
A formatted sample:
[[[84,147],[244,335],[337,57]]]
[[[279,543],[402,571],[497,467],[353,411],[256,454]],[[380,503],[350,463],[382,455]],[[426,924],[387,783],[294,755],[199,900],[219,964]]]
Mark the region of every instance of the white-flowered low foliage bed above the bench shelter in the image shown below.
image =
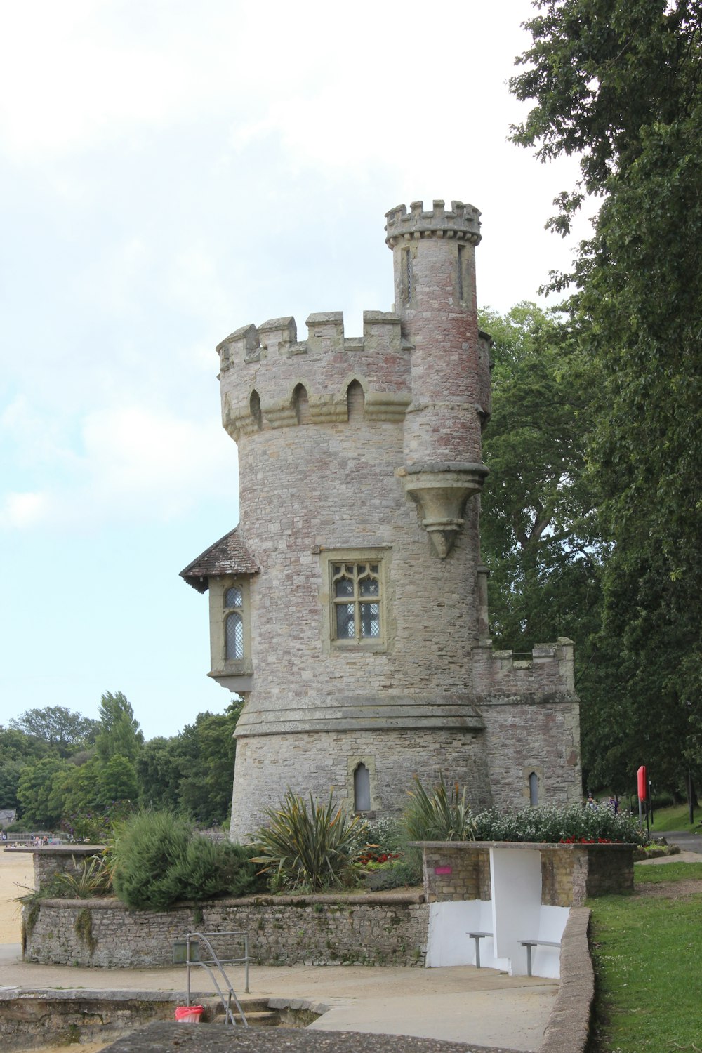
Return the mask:
[[[565,808],[524,808],[501,812],[490,808],[475,816],[479,841],[622,841],[643,845],[646,836],[638,820],[606,806],[569,804]]]

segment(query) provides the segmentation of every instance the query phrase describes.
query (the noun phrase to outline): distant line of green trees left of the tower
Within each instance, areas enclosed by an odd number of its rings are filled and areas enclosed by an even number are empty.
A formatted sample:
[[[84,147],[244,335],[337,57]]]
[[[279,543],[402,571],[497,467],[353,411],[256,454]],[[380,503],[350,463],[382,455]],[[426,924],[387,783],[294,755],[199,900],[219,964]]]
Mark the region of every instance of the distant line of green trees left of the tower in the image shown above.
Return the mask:
[[[102,696],[99,719],[62,706],[28,710],[0,727],[0,808],[25,827],[77,838],[107,832],[138,806],[172,809],[200,826],[226,821],[239,704],[200,713],[178,735],[144,741],[121,692]]]

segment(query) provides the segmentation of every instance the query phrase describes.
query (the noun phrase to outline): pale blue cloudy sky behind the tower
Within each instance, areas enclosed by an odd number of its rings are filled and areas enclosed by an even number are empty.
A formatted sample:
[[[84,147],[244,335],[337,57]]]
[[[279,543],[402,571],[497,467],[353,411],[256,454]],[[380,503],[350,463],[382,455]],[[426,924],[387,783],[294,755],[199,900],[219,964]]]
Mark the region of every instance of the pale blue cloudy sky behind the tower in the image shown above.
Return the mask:
[[[33,0],[0,39],[0,724],[230,696],[178,574],[239,518],[215,346],[390,310],[384,214],[482,212],[481,306],[537,299],[575,162],[507,141],[527,0]],[[585,232],[583,232],[585,233]],[[582,234],[581,234],[582,236]],[[548,301],[550,302],[550,301]]]

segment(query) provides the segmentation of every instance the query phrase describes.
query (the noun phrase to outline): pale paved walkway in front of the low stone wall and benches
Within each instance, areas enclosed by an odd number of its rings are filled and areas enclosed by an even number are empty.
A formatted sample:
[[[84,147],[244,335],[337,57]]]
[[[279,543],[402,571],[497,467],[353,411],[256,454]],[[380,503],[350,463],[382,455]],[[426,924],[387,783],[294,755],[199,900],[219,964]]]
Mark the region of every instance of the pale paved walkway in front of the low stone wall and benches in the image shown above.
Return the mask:
[[[233,973],[243,994],[243,972]],[[0,987],[183,991],[176,969],[74,969],[20,960],[18,946],[0,947]],[[208,990],[206,974],[194,988]],[[495,969],[456,966],[406,969],[386,966],[253,966],[255,997],[298,998],[329,1007],[312,1027],[320,1031],[416,1035],[474,1046],[537,1050],[558,992],[558,981],[507,976]]]

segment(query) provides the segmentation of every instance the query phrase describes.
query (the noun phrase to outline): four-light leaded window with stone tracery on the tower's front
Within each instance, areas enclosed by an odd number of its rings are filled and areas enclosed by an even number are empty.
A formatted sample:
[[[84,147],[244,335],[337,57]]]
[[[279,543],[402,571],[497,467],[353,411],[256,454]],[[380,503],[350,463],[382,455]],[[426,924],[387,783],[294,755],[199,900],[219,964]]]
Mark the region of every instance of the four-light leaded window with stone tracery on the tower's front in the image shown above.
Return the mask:
[[[330,568],[335,639],[380,639],[380,563],[332,563]]]

